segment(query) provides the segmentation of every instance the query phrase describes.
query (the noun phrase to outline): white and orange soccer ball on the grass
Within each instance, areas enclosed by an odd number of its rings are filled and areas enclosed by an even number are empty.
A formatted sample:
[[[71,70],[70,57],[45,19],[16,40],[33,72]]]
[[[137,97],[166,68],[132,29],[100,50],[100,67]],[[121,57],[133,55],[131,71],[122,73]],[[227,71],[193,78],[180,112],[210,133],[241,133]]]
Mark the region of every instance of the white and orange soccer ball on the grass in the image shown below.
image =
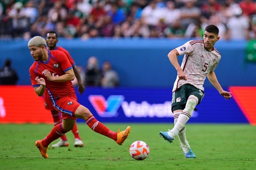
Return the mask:
[[[135,141],[130,146],[129,152],[132,158],[136,160],[144,160],[149,154],[149,147],[147,143],[143,141]]]

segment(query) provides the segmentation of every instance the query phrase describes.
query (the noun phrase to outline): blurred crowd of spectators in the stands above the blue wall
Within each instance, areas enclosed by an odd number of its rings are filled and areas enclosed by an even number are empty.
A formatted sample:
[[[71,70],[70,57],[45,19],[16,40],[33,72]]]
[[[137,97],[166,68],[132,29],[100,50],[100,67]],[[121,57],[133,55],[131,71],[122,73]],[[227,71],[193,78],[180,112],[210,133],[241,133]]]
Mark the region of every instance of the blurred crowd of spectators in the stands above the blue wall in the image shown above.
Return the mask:
[[[0,0],[0,39],[46,35],[203,37],[214,24],[226,40],[256,38],[255,0]]]

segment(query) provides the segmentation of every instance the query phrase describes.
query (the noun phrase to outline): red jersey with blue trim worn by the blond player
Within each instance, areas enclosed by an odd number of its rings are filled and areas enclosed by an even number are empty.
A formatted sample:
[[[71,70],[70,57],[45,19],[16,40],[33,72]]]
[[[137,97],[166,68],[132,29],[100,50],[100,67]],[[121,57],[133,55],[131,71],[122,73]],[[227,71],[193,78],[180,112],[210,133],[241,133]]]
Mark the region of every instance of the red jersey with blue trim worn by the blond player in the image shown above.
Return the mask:
[[[44,78],[46,83],[46,88],[48,92],[53,97],[63,97],[63,96],[76,96],[75,89],[69,82],[52,82],[49,81],[43,74],[42,71],[49,70],[52,76],[64,75],[66,71],[73,68],[69,62],[67,56],[62,51],[52,50],[49,51],[49,58],[47,62],[42,62],[41,60],[35,61],[29,69],[30,80],[33,87],[39,87],[35,78]]]

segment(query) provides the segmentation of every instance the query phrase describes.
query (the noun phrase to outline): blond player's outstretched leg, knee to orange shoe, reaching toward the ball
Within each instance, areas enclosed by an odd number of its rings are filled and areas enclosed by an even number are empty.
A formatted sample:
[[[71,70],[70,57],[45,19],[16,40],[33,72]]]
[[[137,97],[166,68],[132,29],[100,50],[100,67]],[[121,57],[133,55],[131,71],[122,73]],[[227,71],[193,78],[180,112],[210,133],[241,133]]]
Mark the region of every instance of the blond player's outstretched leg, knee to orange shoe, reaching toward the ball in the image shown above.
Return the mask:
[[[104,124],[99,122],[93,114],[90,112],[90,110],[82,105],[80,105],[76,111],[75,111],[75,116],[77,118],[84,119],[86,121],[87,126],[91,128],[91,130],[102,134],[106,137],[109,137],[116,141],[118,145],[123,145],[125,139],[128,137],[131,128],[128,126],[126,130],[121,131],[118,130],[118,132],[113,132],[108,129]]]

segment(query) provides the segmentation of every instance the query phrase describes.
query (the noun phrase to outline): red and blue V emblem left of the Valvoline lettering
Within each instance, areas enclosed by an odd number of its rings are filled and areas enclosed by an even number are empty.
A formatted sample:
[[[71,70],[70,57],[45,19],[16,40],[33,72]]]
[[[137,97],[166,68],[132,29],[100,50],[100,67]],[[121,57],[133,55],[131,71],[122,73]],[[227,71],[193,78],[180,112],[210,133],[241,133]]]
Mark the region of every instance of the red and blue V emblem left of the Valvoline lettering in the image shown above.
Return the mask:
[[[89,100],[98,115],[101,117],[113,117],[124,101],[123,95],[111,95],[106,100],[102,95],[90,95]]]

